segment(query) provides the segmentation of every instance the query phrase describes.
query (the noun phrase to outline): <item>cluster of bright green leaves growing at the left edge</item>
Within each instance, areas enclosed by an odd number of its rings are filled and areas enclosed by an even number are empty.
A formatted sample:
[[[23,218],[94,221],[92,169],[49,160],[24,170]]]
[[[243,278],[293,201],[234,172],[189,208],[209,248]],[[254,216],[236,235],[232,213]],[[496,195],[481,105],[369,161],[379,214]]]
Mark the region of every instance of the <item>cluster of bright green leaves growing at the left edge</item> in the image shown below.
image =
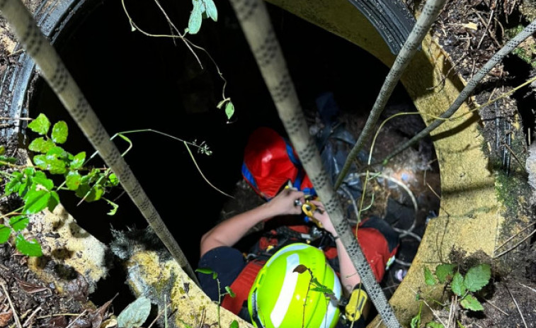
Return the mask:
[[[86,153],[79,152],[73,155],[60,147],[67,141],[69,129],[67,123],[59,121],[52,126],[47,116],[39,114],[35,120],[28,124],[28,128],[38,133],[37,137],[28,149],[35,152],[33,164],[35,166],[15,166],[14,171],[6,173],[9,176],[4,186],[4,196],[16,194],[23,200],[21,210],[23,215],[8,213],[11,216],[8,225],[0,225],[0,243],[7,242],[12,234],[15,234],[15,246],[18,251],[28,256],[41,256],[41,247],[35,239],[24,239],[21,231],[29,224],[30,220],[25,215],[39,213],[48,208],[54,210],[59,204],[58,190],[74,191],[77,196],[90,202],[102,198],[106,188],[118,186],[119,180],[109,169],[88,169],[84,167]],[[49,136],[50,133],[50,136]],[[0,147],[0,154],[4,154],[5,147]],[[15,164],[16,159],[0,156],[0,165]],[[87,173],[89,172],[89,173]],[[64,176],[64,182],[55,186],[54,181],[49,179],[48,174]],[[66,187],[64,187],[66,186]],[[107,200],[108,201],[108,200]],[[118,205],[108,201],[112,205],[110,213],[117,211]],[[110,214],[108,213],[108,214]]]

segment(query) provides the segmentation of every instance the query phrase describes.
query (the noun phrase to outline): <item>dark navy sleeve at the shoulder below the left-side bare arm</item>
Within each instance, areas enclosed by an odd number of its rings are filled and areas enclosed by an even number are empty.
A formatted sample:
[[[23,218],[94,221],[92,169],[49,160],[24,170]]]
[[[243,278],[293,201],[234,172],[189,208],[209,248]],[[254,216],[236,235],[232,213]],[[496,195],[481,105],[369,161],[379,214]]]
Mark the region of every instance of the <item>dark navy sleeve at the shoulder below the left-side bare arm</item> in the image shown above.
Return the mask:
[[[239,273],[246,266],[244,255],[238,249],[220,246],[207,251],[199,260],[198,268],[210,268],[217,272],[218,284],[212,278],[212,274],[198,272],[198,280],[201,289],[211,300],[218,300],[218,296],[226,293],[225,286],[230,286]]]

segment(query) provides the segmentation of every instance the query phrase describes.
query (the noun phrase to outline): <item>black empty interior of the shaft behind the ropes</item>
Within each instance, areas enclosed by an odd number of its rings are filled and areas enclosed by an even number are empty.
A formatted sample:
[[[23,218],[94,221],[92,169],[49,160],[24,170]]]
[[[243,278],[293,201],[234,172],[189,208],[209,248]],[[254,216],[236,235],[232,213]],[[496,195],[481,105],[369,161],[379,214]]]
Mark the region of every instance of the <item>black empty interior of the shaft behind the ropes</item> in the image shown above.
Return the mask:
[[[169,24],[154,2],[129,0],[125,5],[140,28],[155,34],[170,33]],[[182,31],[187,26],[191,3],[161,1],[161,5]],[[88,4],[80,17],[61,31],[56,47],[110,135],[150,128],[183,140],[206,142],[213,154],[195,154],[195,159],[211,183],[233,193],[241,181],[242,155],[249,134],[263,125],[282,134],[284,130],[229,3],[219,1],[217,6],[218,22],[204,20],[200,33],[188,38],[210,52],[227,79],[226,95],[236,108],[231,122],[216,108],[222,99],[223,83],[208,57],[196,51],[203,63],[201,69],[181,40],[133,32],[120,1]],[[345,115],[355,115],[364,122],[387,76],[387,67],[360,47],[275,6],[267,6],[309,117],[316,111],[315,98],[321,92],[332,91]],[[414,111],[401,86],[389,106],[397,111]],[[39,112],[52,122],[67,121],[70,135],[65,148],[69,152],[92,152],[67,111],[40,79],[33,86],[30,116]],[[423,125],[421,118],[418,120]],[[190,263],[196,266],[200,237],[220,219],[220,211],[229,198],[205,183],[181,142],[151,132],[129,137],[134,147],[125,159]],[[426,142],[431,148],[430,141]],[[122,140],[116,145],[127,148]],[[431,151],[430,156],[435,157],[435,152]],[[102,165],[98,160],[92,164]],[[436,162],[430,161],[430,167],[430,172],[438,176]],[[436,186],[438,181],[437,177]],[[79,199],[70,193],[61,193],[60,197],[79,224],[105,243],[112,237],[109,227],[124,230],[147,225],[120,190],[107,196],[120,205],[113,217],[106,215],[109,205],[105,202],[77,205]],[[431,199],[430,207],[437,211],[438,200]],[[419,234],[427,213],[421,217]],[[417,246],[418,243],[411,246],[413,252]],[[107,288],[99,289],[99,293],[109,293],[96,296],[106,301],[117,293],[117,284],[108,292]]]

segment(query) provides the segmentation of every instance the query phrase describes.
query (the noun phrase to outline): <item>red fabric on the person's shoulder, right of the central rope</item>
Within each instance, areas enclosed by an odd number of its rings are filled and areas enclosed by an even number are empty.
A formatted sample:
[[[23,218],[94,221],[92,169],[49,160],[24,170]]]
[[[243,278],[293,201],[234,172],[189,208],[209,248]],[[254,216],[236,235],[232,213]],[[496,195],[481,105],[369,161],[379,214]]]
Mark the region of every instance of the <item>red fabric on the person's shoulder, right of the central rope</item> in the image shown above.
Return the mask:
[[[355,235],[355,227],[352,229]],[[398,247],[389,251],[389,245],[382,232],[372,228],[358,228],[358,242],[372,268],[376,281],[382,281],[387,261],[397,253]]]

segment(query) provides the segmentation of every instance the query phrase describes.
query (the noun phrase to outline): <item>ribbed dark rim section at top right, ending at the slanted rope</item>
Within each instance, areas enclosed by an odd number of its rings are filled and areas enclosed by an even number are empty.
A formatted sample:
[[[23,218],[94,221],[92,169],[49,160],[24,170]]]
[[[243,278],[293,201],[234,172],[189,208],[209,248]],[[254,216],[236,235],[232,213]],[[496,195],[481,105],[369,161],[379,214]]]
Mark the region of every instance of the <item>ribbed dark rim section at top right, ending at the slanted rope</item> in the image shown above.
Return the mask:
[[[415,25],[415,17],[401,0],[348,0],[372,23],[389,50],[397,55]]]

